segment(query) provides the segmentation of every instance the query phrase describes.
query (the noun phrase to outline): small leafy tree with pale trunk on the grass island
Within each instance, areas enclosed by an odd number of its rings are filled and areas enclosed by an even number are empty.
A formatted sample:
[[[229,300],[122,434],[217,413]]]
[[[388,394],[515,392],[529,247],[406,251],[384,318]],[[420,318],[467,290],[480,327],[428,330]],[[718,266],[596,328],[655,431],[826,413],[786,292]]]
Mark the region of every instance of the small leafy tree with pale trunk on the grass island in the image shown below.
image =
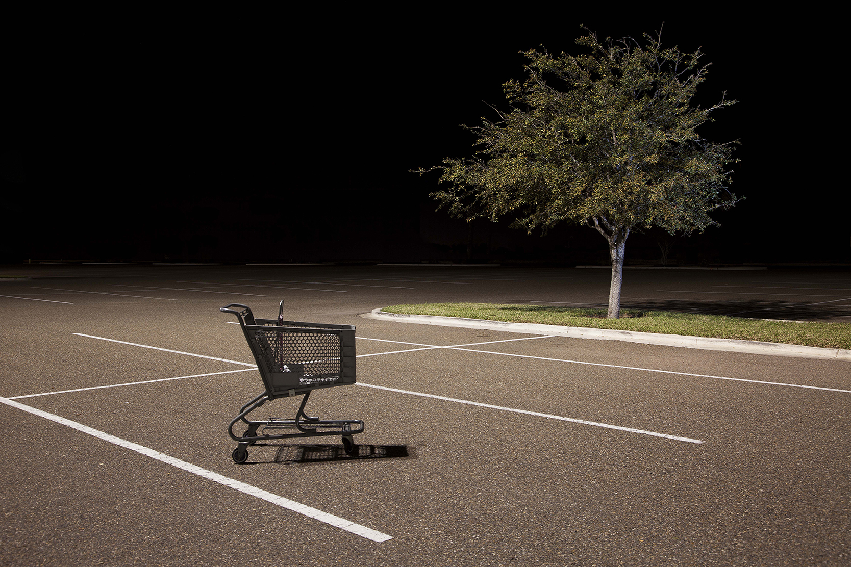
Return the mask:
[[[737,142],[700,138],[710,113],[732,105],[692,105],[705,80],[700,49],[661,47],[661,31],[605,43],[587,31],[576,43],[588,53],[554,57],[525,53],[525,82],[504,85],[511,111],[467,128],[477,133],[470,159],[446,158],[431,196],[470,222],[516,218],[529,233],[562,221],[587,224],[608,241],[612,282],[608,317],[620,315],[626,238],[659,226],[688,234],[717,224],[709,213],[732,207],[728,165]]]

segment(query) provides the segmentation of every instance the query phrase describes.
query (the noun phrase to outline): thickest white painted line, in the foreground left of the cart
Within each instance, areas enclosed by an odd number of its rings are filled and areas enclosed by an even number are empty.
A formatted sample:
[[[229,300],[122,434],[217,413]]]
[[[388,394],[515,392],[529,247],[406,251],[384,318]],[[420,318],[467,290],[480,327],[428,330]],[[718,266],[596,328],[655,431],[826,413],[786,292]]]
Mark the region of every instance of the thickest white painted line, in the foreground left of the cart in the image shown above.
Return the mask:
[[[181,470],[185,470],[187,473],[196,474],[197,476],[202,477],[203,479],[211,480],[214,483],[227,486],[228,488],[232,488],[233,490],[239,490],[240,492],[243,492],[243,494],[247,494],[248,496],[260,498],[260,500],[265,500],[266,502],[270,502],[271,504],[275,504],[276,506],[280,506],[293,512],[303,514],[308,518],[317,519],[325,524],[333,525],[335,528],[340,528],[340,530],[346,530],[348,532],[351,532],[356,536],[365,537],[368,540],[377,541],[379,543],[392,539],[392,536],[388,536],[387,534],[383,534],[380,531],[368,528],[365,525],[355,524],[354,522],[350,522],[345,518],[340,518],[340,516],[334,516],[334,514],[323,512],[322,510],[319,510],[317,508],[305,506],[300,502],[295,502],[294,500],[289,500],[288,498],[284,498],[283,496],[272,494],[271,492],[257,488],[256,486],[247,485],[237,479],[231,479],[223,474],[214,473],[213,471],[208,470],[206,468],[201,468],[197,465],[193,465],[191,462],[181,461],[180,459],[175,458],[174,456],[168,456],[165,453],[155,451],[144,445],[138,445],[136,443],[133,443],[132,441],[116,437],[115,435],[106,434],[103,431],[90,428],[89,426],[83,425],[82,423],[73,422],[70,419],[66,419],[65,417],[60,417],[52,413],[48,413],[47,411],[37,410],[36,408],[31,407],[30,405],[24,405],[20,402],[9,400],[9,398],[0,398],[0,402],[11,407],[17,408],[21,411],[27,411],[32,415],[43,417],[44,419],[49,419],[52,422],[60,423],[61,425],[65,425],[69,428],[77,429],[77,431],[80,431],[84,434],[89,434],[93,437],[97,437],[98,439],[103,439],[104,441],[113,445],[118,445],[120,447],[124,447],[125,449],[129,449],[130,451],[140,453],[140,455],[150,456],[152,459],[156,459],[159,462],[164,462],[173,467],[180,468]]]

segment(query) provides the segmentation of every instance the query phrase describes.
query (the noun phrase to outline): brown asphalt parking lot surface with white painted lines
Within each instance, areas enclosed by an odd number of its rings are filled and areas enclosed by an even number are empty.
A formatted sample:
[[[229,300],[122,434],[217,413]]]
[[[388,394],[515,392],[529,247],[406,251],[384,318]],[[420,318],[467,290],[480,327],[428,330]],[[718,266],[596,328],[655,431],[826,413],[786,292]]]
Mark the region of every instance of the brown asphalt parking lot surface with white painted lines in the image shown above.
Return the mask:
[[[585,275],[600,270],[448,270],[4,283],[3,564],[848,562],[847,362],[358,316],[606,292]],[[262,386],[218,308],[272,316],[281,299],[288,319],[357,326],[357,386],[308,405],[366,422],[357,456],[331,437],[231,461],[227,423]]]

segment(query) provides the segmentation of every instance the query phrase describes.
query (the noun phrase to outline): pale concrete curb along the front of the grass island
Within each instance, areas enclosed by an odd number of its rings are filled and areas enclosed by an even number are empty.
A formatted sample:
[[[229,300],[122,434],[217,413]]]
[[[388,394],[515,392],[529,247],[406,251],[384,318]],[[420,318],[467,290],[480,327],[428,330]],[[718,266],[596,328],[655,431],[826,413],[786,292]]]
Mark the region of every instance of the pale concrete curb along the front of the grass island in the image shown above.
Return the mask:
[[[730,338],[663,335],[655,332],[614,331],[612,329],[591,329],[581,326],[506,323],[505,321],[438,317],[436,315],[400,315],[397,313],[382,313],[381,308],[373,309],[371,313],[364,313],[361,316],[368,319],[395,320],[400,323],[456,326],[467,329],[523,332],[532,335],[559,335],[561,337],[591,338],[603,341],[658,344],[666,347],[685,347],[686,349],[726,350],[734,353],[774,354],[775,356],[793,356],[816,360],[848,360],[851,362],[851,350],[821,349],[820,347],[804,347],[797,344],[760,343],[758,341],[740,341]]]

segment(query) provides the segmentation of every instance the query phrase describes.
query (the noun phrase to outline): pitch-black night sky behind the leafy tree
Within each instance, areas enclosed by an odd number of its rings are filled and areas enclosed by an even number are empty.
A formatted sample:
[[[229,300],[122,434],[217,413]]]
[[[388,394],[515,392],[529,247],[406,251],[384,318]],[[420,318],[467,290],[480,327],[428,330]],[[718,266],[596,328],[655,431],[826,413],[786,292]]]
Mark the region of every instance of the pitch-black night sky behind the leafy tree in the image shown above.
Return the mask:
[[[537,10],[8,18],[0,260],[458,259],[468,233],[433,212],[437,176],[408,170],[471,154],[459,125],[505,107],[521,50],[576,53],[581,24],[638,37],[664,21],[663,44],[713,64],[704,104],[740,100],[704,134],[741,140],[732,189],[747,199],[683,250],[851,261],[829,17]],[[590,229],[475,230],[481,259],[605,259]]]

